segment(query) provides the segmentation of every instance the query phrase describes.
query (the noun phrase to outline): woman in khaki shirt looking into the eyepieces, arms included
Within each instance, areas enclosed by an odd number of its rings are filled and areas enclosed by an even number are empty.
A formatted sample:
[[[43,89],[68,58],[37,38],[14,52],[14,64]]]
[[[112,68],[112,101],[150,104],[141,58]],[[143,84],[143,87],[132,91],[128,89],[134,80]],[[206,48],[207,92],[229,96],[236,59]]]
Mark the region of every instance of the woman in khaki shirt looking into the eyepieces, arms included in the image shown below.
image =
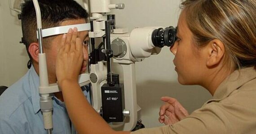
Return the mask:
[[[79,42],[77,32],[64,35],[57,58],[57,80],[79,134],[256,134],[255,11],[255,0],[182,3],[178,40],[170,48],[178,81],[203,86],[213,99],[187,115],[177,100],[164,97],[167,103],[160,108],[159,121],[166,126],[135,132],[112,130],[89,105],[77,84],[82,46],[64,45]]]

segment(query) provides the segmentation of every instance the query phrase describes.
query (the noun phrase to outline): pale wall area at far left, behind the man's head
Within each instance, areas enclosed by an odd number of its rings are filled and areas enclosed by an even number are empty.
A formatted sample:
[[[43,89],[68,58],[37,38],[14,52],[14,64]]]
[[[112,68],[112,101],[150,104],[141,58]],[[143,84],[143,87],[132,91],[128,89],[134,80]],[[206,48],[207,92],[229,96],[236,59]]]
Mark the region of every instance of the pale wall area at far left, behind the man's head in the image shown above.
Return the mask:
[[[10,86],[27,71],[26,48],[20,44],[21,23],[9,8],[9,0],[0,1],[0,85]]]

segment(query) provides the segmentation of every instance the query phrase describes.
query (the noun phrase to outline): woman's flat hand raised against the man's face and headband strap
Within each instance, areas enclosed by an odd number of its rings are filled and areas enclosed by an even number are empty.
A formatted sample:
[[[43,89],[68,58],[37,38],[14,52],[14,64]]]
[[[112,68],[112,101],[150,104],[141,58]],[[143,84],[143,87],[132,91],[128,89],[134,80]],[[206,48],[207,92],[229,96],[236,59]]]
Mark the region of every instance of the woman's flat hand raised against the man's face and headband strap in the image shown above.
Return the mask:
[[[60,86],[63,81],[78,82],[83,63],[83,46],[80,38],[77,38],[77,33],[77,28],[69,29],[67,34],[63,34],[58,46],[56,76]]]

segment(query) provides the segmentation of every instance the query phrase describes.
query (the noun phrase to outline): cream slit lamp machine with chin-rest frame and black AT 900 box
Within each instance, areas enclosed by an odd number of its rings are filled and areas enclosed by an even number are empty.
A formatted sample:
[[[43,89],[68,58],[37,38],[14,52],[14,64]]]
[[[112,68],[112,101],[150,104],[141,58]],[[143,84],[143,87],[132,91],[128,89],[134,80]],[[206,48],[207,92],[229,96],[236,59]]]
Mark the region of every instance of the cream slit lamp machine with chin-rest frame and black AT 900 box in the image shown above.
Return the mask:
[[[40,7],[33,0],[36,20],[37,38],[40,45],[40,109],[44,118],[44,129],[52,133],[53,100],[50,93],[60,92],[57,84],[49,84],[46,57],[42,39],[47,36],[65,34],[69,28],[77,27],[78,31],[89,31],[89,73],[79,75],[79,85],[90,84],[90,99],[93,108],[115,130],[136,130],[137,105],[135,63],[141,62],[150,55],[159,54],[163,46],[172,47],[176,41],[176,28],[143,27],[118,29],[115,26],[115,15],[108,14],[111,9],[124,9],[123,3],[110,4],[110,0],[89,0],[89,5],[82,2],[87,12],[90,11],[90,23],[67,25],[42,29]],[[81,1],[80,1],[81,3]],[[11,0],[9,0],[10,8]],[[21,13],[20,10],[12,8]],[[100,42],[96,44],[96,42]],[[113,69],[117,64],[119,69]],[[139,124],[140,125],[140,124]]]

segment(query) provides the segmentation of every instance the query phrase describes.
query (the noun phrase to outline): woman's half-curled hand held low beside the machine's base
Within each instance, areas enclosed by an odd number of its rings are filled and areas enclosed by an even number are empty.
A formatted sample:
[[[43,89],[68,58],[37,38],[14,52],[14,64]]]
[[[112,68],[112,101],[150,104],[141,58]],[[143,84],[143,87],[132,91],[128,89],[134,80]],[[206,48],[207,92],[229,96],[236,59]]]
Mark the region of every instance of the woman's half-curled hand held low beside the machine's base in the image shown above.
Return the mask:
[[[189,115],[188,111],[184,109],[176,99],[171,97],[162,97],[161,100],[163,100],[165,104],[160,107],[160,123],[172,125]]]

